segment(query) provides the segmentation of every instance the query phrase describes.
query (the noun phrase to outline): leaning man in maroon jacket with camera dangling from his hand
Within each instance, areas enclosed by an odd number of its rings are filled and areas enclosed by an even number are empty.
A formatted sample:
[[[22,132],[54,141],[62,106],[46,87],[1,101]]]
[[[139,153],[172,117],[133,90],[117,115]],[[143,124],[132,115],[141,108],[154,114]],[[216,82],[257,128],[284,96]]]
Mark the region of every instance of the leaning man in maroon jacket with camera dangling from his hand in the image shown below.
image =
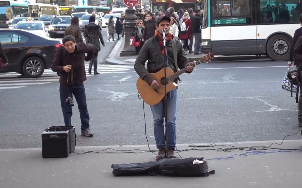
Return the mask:
[[[51,70],[60,75],[60,99],[65,126],[71,126],[72,95],[78,103],[81,118],[81,135],[93,136],[89,128],[86,94],[83,82],[86,80],[85,61],[92,58],[94,47],[84,42],[76,43],[76,39],[67,35],[62,40],[63,46],[56,50]],[[87,57],[85,56],[87,53]]]

